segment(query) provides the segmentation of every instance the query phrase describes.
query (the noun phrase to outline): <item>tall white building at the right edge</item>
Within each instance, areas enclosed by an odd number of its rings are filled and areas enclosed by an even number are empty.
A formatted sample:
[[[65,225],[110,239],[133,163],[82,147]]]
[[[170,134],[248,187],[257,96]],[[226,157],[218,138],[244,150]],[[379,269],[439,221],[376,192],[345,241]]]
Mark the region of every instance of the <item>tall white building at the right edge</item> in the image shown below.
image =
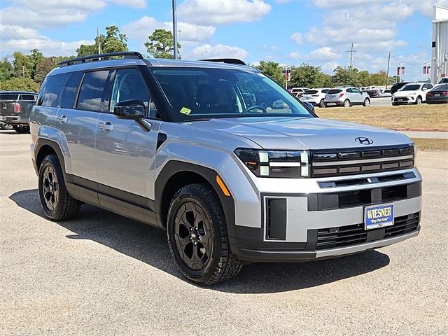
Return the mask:
[[[437,83],[448,76],[448,8],[434,6],[433,10],[431,80]]]

